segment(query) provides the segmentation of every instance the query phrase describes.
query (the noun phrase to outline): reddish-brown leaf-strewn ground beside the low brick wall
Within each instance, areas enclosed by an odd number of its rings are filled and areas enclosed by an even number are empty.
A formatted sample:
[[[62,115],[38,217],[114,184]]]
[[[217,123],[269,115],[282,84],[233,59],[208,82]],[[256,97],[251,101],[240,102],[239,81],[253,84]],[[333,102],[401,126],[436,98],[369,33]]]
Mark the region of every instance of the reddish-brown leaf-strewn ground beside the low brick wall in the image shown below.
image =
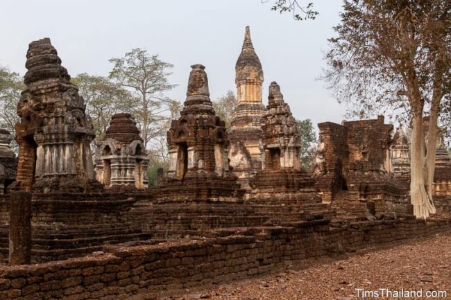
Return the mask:
[[[340,258],[311,260],[257,279],[186,290],[185,294],[160,299],[451,300],[451,234]]]

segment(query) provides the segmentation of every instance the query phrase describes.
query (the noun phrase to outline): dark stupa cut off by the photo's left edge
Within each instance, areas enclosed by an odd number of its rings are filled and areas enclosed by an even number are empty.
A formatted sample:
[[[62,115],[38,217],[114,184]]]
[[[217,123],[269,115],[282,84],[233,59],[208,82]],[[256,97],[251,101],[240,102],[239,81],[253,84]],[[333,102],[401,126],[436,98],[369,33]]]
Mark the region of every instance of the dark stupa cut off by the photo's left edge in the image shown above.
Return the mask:
[[[0,194],[16,179],[17,158],[10,148],[12,139],[8,130],[0,129]]]

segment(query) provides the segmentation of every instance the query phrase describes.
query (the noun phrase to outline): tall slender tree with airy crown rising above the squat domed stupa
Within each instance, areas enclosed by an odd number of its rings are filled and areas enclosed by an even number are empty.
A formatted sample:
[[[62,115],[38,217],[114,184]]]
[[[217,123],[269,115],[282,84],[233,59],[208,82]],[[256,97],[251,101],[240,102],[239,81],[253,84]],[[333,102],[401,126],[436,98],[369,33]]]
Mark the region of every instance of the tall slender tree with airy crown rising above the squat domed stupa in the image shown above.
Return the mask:
[[[123,58],[112,58],[110,62],[114,65],[110,78],[139,96],[137,121],[144,147],[147,147],[153,137],[162,134],[161,123],[168,118],[167,112],[173,100],[163,93],[174,87],[168,81],[173,65],[141,48],[134,48]]]

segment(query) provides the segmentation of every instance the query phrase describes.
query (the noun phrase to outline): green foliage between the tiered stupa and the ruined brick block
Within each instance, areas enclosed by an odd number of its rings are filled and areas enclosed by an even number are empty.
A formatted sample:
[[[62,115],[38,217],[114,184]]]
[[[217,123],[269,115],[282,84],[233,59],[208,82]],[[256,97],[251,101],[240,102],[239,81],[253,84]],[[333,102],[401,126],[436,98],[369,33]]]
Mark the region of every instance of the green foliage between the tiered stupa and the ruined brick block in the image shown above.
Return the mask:
[[[314,130],[312,120],[296,120],[300,134],[300,164],[305,170],[310,171],[313,168],[315,152],[316,152],[316,132]]]

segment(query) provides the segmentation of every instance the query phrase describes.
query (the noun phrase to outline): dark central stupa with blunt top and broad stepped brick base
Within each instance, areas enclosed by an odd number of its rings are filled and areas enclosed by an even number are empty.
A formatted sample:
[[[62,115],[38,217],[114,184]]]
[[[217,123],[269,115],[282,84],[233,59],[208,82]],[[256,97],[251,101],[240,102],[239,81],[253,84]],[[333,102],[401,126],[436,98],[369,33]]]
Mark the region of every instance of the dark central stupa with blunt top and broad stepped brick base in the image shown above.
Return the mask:
[[[168,132],[170,166],[158,193],[164,200],[236,201],[243,194],[229,170],[226,127],[214,113],[204,69],[192,66],[185,106]]]

